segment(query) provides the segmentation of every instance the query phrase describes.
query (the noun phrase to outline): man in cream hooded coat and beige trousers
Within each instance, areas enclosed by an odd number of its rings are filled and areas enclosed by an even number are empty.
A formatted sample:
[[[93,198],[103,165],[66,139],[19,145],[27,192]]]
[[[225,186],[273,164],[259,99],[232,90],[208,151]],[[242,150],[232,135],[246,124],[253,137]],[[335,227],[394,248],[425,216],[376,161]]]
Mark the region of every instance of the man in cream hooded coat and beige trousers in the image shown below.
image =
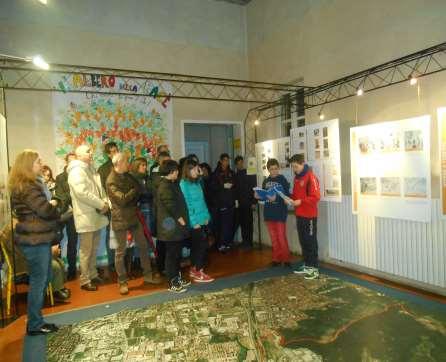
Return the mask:
[[[110,209],[100,176],[92,166],[90,146],[79,146],[75,153],[76,160],[70,162],[67,171],[74,224],[80,239],[80,284],[84,290],[95,291],[97,284],[102,283],[96,270],[96,252],[100,231],[108,225],[106,214]]]

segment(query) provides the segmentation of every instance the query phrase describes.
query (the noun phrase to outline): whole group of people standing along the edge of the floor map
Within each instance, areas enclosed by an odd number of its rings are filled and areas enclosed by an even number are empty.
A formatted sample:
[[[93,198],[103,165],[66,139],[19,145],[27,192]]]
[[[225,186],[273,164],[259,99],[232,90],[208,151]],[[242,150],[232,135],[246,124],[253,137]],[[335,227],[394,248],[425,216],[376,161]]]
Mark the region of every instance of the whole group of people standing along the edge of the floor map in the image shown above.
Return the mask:
[[[229,155],[222,154],[212,172],[195,155],[176,162],[167,146],[158,147],[156,162],[149,170],[145,158],[130,163],[114,142],[105,145],[105,154],[107,162],[96,171],[91,147],[77,147],[66,156],[64,171],[55,180],[51,169],[42,165],[39,154],[32,150],[20,153],[11,169],[9,189],[17,218],[15,241],[29,271],[27,332],[30,335],[57,330],[57,326],[44,322],[41,308],[44,290],[52,277],[51,260],[53,265],[54,260],[61,264],[57,257],[63,228],[68,241],[67,278],[76,278],[79,240],[80,286],[86,291],[96,291],[103,283],[96,254],[101,231],[106,229],[109,268],[116,271],[122,295],[129,292],[124,262],[129,240],[137,247],[144,283],[159,284],[160,275],[165,274],[168,290],[176,293],[186,291],[190,280],[198,283],[214,280],[204,271],[210,235],[215,238],[218,250],[225,253],[234,246],[234,235],[240,226],[242,247],[252,247],[253,210],[260,197],[253,191],[256,177],[247,175],[243,157],[235,159],[233,171]],[[295,155],[290,162],[295,172],[291,195],[290,185],[279,174],[279,164],[274,159],[268,161],[270,176],[263,182],[264,189],[282,185],[285,193],[284,197],[268,197],[264,207],[272,241],[272,264],[290,266],[286,218],[287,204],[292,205],[305,260],[304,266],[295,272],[313,279],[318,277],[319,185],[302,157]],[[184,245],[190,247],[190,280],[181,274]],[[156,257],[154,266],[150,251]],[[58,284],[57,295],[68,298],[70,293],[63,287],[63,277]]]

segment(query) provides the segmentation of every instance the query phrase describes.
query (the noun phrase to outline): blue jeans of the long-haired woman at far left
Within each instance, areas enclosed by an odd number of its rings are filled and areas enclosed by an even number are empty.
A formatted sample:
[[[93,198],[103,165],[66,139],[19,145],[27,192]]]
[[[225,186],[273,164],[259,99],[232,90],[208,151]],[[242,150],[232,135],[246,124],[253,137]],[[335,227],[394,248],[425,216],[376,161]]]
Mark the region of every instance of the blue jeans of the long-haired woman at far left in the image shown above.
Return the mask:
[[[25,256],[29,273],[27,329],[36,331],[45,324],[42,307],[45,289],[51,279],[51,244],[21,244],[19,248]]]

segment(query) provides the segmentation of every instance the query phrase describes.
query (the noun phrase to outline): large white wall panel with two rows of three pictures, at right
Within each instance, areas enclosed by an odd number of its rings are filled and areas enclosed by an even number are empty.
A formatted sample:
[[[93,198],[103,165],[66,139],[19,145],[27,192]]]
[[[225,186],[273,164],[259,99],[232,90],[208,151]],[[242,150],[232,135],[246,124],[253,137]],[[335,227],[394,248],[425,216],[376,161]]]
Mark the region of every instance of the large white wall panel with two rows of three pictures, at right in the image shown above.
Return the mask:
[[[353,212],[431,219],[430,116],[350,129]]]

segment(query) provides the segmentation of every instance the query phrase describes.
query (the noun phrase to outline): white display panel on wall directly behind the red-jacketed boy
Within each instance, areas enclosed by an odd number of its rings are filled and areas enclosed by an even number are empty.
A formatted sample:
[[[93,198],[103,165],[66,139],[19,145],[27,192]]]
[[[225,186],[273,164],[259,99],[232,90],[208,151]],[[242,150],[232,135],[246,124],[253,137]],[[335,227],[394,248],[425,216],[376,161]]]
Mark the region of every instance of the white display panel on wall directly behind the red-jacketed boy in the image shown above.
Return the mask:
[[[303,154],[319,179],[322,201],[341,202],[339,120],[312,123],[291,130],[292,154]]]

